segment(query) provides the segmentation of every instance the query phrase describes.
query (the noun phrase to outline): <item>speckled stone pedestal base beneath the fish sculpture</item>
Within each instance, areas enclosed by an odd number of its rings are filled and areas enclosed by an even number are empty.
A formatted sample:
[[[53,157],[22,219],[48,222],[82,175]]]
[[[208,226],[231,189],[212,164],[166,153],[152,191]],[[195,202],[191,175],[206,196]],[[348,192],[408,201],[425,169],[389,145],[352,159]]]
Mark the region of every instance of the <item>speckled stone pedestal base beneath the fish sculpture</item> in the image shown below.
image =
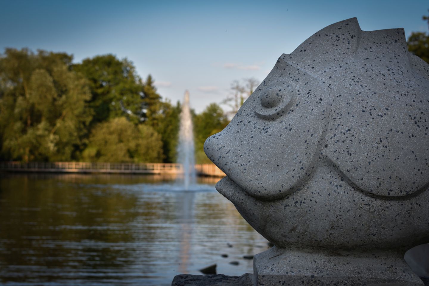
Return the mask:
[[[423,286],[396,252],[332,252],[272,247],[254,257],[255,286]]]

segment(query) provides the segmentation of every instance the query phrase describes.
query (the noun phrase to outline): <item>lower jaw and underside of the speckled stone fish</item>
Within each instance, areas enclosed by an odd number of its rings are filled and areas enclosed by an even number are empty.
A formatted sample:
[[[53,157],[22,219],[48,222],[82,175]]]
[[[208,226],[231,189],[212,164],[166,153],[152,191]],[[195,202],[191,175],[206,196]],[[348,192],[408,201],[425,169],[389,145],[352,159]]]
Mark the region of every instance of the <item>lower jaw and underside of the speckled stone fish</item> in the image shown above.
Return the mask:
[[[320,175],[312,176],[308,181],[312,185],[310,188],[293,189],[290,195],[275,200],[251,196],[228,176],[216,184],[216,190],[234,204],[249,225],[280,248],[409,249],[428,241],[427,219],[423,218],[427,215],[423,215],[423,205],[420,205],[420,202],[427,201],[428,192],[408,196],[406,199],[412,208],[403,212],[404,198],[374,197],[356,191],[347,180],[342,181],[341,174],[333,172],[333,168],[321,166],[317,171]],[[320,178],[325,185],[317,190],[314,184]],[[336,191],[336,196],[332,184],[329,184],[331,180],[338,187],[343,184],[338,189],[343,190]],[[357,214],[356,210],[344,207],[356,202],[366,202],[362,207],[365,211]],[[408,237],[405,229],[397,227],[410,215],[422,217],[413,226],[416,229],[413,238]],[[381,223],[381,228],[378,223]],[[344,235],[349,231],[359,233],[358,238],[350,239]]]

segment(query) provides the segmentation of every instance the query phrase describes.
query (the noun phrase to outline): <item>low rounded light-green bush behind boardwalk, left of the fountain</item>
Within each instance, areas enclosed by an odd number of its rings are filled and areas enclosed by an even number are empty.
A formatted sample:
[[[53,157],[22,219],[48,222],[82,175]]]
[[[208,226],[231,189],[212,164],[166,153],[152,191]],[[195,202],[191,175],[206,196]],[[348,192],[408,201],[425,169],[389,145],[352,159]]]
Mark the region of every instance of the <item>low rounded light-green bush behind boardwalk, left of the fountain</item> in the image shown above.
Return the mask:
[[[116,117],[93,128],[82,160],[157,163],[163,159],[161,146],[161,136],[151,126]]]

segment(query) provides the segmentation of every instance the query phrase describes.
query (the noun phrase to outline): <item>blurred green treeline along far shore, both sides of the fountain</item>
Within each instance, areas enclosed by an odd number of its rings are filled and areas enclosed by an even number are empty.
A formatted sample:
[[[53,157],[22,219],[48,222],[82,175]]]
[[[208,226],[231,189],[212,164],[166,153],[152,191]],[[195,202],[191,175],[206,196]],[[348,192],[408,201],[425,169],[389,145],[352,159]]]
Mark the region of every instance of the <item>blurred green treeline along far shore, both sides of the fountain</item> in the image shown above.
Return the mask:
[[[65,53],[6,48],[0,55],[0,160],[173,163],[180,103],[163,99],[127,59],[73,63]],[[210,104],[193,114],[196,159],[228,119]]]

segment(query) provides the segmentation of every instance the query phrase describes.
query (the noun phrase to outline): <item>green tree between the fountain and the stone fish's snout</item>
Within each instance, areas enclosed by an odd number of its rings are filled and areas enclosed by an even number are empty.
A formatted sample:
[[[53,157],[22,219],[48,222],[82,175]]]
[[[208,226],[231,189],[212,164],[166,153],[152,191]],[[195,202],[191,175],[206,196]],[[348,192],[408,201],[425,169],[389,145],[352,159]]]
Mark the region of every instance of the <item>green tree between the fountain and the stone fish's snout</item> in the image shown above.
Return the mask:
[[[216,103],[209,104],[204,111],[194,117],[196,163],[210,163],[204,153],[205,139],[222,131],[228,123],[227,115]]]

